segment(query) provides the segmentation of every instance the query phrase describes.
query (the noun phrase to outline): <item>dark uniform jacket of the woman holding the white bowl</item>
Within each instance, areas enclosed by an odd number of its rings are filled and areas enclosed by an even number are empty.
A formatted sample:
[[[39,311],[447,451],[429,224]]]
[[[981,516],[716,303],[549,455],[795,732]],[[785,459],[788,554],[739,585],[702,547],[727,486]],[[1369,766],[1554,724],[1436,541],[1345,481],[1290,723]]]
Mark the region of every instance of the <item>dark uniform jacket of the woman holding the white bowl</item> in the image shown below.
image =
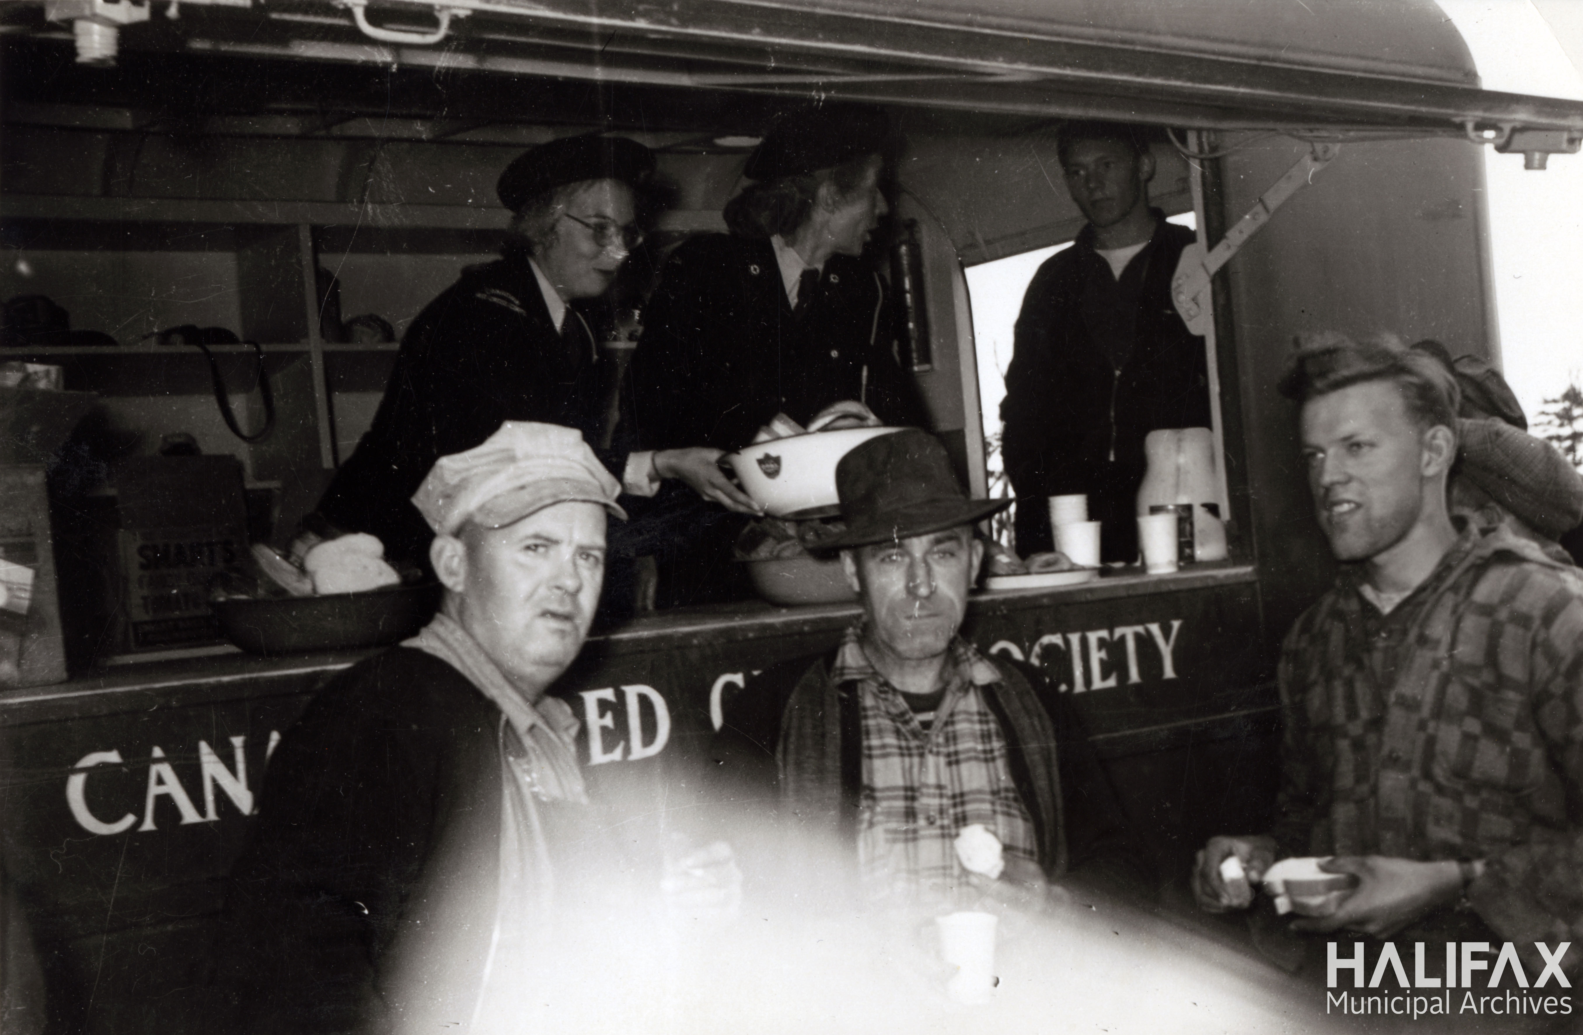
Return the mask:
[[[768,237],[693,237],[666,260],[644,310],[635,435],[651,449],[739,449],[777,411],[806,424],[864,396],[886,424],[924,427],[891,326],[883,286],[860,260],[833,255],[818,298],[795,317]]]

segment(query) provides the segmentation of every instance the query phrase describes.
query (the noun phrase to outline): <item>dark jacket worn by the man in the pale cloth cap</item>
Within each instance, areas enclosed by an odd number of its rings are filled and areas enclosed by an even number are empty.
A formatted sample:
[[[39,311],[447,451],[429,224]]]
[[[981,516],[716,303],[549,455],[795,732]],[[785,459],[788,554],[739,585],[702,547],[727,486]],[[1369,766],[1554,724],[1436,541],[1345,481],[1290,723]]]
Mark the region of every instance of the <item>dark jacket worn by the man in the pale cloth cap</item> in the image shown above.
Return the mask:
[[[472,959],[483,965],[497,885],[489,867],[499,866],[499,725],[500,709],[461,673],[410,647],[320,690],[269,761],[231,870],[218,984],[236,1013],[214,1030],[345,1032],[377,1018],[385,951],[442,856],[480,864]]]

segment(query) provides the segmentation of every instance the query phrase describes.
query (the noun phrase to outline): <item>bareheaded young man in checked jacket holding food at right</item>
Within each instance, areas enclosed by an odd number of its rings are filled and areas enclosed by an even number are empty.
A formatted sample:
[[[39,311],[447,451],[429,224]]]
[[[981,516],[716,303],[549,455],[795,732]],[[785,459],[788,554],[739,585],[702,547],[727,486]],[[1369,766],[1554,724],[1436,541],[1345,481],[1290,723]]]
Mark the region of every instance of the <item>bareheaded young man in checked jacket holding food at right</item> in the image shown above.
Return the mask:
[[[1583,574],[1504,525],[1453,525],[1458,388],[1428,356],[1325,336],[1282,391],[1344,568],[1282,647],[1276,828],[1211,839],[1198,902],[1251,904],[1228,856],[1252,880],[1334,856],[1357,888],[1292,929],[1512,942],[1534,973],[1536,942],[1583,940]]]

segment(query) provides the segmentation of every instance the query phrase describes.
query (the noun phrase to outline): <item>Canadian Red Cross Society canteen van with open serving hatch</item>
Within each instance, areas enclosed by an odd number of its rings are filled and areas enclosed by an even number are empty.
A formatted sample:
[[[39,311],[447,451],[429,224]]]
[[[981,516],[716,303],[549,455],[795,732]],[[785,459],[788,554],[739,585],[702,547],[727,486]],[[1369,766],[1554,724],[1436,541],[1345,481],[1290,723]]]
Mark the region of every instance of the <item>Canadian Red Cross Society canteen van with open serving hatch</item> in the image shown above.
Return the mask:
[[[659,154],[652,261],[723,229],[763,127],[810,98],[882,104],[907,136],[902,233],[880,267],[912,282],[902,359],[983,495],[964,267],[1083,225],[1061,120],[1156,127],[1152,203],[1192,212],[1211,255],[1246,215],[1257,229],[1197,293],[1230,557],[980,593],[964,631],[1073,695],[1176,881],[1206,836],[1266,823],[1274,649],[1333,574],[1295,407],[1274,391],[1292,337],[1390,329],[1499,362],[1483,149],[1542,169],[1583,141],[1583,104],[1482,90],[1429,0],[9,0],[0,32],[0,288],[120,342],[0,359],[63,367],[136,449],[180,430],[234,448],[277,514],[347,457],[396,348],[326,334],[317,271],[342,313],[399,329],[499,245],[500,169],[598,130]],[[226,435],[195,350],[142,340],[177,324],[261,343],[269,438]],[[249,388],[252,351],[214,351]],[[853,616],[719,605],[590,638],[557,693],[584,720],[592,793],[654,828],[654,796],[697,771],[722,701]],[[179,1024],[269,752],[358,657],[123,650],[0,690],[0,858],[62,1030]]]

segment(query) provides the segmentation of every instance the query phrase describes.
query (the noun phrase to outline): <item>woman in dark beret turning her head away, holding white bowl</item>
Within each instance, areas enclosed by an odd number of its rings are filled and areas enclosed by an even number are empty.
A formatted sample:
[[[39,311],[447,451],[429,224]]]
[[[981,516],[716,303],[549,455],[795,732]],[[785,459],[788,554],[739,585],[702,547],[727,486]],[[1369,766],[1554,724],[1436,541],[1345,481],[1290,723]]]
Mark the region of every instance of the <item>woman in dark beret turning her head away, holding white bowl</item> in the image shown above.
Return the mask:
[[[829,104],[782,119],[754,150],[754,182],[725,207],[731,233],[681,244],[644,309],[632,361],[643,445],[738,449],[776,413],[806,426],[833,404],[928,426],[885,285],[861,258],[890,210],[891,142],[885,112]],[[728,543],[744,519],[684,497],[662,510],[662,597],[736,595]]]

